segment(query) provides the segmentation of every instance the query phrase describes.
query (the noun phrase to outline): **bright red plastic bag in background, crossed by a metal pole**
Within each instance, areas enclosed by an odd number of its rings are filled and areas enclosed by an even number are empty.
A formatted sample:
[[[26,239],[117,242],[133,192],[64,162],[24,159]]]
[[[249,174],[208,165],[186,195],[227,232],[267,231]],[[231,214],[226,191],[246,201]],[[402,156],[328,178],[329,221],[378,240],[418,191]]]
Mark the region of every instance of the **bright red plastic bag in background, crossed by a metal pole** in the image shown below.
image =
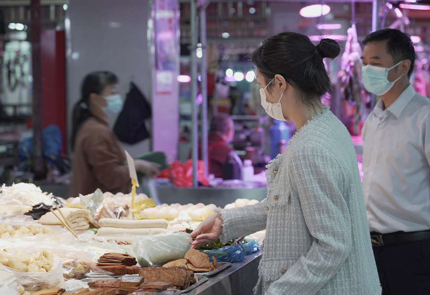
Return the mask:
[[[206,168],[205,163],[199,160],[197,163],[197,180],[208,186],[209,182],[206,178]],[[174,161],[171,167],[160,172],[157,178],[167,178],[172,181],[177,187],[191,187],[193,186],[193,162],[192,160],[187,160],[185,163],[180,161]]]

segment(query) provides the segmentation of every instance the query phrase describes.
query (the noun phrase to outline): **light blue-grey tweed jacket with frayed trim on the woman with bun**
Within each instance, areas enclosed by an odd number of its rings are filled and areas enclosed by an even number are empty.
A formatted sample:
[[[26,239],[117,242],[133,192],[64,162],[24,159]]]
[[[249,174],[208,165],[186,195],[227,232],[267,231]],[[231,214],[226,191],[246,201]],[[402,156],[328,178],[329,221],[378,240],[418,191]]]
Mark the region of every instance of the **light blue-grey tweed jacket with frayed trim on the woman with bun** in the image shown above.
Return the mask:
[[[379,295],[357,158],[325,108],[266,171],[261,203],[215,210],[221,240],[266,229],[255,295]]]

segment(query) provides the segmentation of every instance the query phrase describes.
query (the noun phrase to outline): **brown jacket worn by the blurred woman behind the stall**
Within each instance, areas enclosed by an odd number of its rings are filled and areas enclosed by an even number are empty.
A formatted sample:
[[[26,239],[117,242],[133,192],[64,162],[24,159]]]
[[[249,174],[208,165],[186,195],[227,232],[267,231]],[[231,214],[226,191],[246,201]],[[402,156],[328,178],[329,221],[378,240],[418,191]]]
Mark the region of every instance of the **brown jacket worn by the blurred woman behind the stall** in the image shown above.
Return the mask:
[[[126,154],[109,126],[90,117],[78,131],[73,150],[69,197],[102,192],[129,193]]]

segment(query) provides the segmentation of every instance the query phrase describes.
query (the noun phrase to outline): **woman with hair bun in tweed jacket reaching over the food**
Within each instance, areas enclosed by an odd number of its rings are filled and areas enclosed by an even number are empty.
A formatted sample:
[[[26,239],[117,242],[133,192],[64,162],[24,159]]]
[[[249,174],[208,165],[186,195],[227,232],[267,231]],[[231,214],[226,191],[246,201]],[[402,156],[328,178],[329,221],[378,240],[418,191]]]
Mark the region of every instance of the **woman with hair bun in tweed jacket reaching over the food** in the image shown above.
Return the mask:
[[[261,105],[277,120],[293,120],[298,131],[266,167],[266,199],[216,209],[191,235],[196,248],[266,229],[255,295],[381,294],[355,150],[321,103],[331,86],[323,59],[340,50],[335,40],[315,46],[288,32],[251,54]]]

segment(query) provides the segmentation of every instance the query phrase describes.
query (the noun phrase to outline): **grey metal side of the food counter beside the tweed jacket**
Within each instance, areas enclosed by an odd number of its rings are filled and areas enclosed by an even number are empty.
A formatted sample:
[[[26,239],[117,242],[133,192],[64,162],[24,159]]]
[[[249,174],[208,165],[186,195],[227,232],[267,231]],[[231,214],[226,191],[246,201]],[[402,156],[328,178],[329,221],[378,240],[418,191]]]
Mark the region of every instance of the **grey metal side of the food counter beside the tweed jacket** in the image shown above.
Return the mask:
[[[209,281],[191,290],[187,295],[244,295],[253,294],[258,282],[258,263],[261,255],[245,256],[242,262],[235,262],[225,270],[209,278]]]

